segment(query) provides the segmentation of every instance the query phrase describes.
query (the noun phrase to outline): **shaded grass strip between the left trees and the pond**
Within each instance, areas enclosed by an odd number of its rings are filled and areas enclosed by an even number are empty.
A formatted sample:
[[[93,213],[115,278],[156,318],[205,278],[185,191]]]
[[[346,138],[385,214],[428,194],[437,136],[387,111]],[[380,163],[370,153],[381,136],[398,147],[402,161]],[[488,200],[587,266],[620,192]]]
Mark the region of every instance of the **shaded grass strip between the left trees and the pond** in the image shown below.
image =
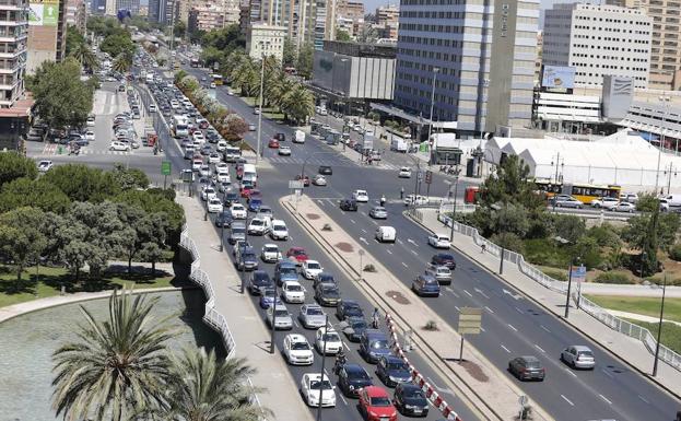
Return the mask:
[[[39,279],[39,281],[38,281]],[[104,291],[130,284],[136,288],[163,288],[171,286],[175,277],[156,270],[156,276],[151,273],[105,273],[99,280],[87,278],[87,273],[81,273],[81,281],[75,283],[73,277],[64,268],[39,268],[39,278],[36,268],[27,268],[22,282],[16,282],[16,273],[8,267],[0,266],[0,307],[23,303],[26,301],[45,299],[59,295],[61,285],[67,288],[67,293],[83,291]]]

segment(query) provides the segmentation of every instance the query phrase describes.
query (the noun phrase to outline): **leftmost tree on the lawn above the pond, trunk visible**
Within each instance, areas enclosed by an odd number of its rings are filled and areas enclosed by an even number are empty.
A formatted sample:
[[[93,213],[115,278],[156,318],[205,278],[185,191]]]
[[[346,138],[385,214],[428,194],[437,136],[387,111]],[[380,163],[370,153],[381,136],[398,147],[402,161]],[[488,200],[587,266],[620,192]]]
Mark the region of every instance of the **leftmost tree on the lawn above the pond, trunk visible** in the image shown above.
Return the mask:
[[[17,208],[0,215],[0,250],[16,267],[16,282],[30,261],[35,261],[47,246],[40,230],[45,213],[35,208]]]

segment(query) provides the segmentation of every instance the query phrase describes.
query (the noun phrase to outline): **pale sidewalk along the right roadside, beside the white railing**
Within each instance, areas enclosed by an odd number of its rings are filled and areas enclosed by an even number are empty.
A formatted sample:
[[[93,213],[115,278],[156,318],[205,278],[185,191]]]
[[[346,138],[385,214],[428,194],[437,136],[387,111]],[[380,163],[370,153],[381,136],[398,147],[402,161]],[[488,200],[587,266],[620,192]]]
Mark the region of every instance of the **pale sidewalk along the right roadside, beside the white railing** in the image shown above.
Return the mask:
[[[421,209],[420,211],[423,214],[421,225],[433,232],[443,231],[443,223],[437,220],[436,209]],[[500,259],[490,253],[481,254],[480,246],[473,242],[472,237],[455,235],[451,244],[456,249],[463,253],[472,260],[475,260],[490,272],[498,273]],[[549,312],[563,318],[565,295],[542,286],[520,272],[518,267],[509,261],[504,262],[504,274],[498,276],[498,278],[523,292],[527,297],[533,300]],[[574,303],[570,312],[570,318],[564,320],[602,348],[609,350],[612,354],[618,355],[622,361],[629,363],[642,374],[646,376],[650,374],[654,355],[648,352],[643,342],[610,329],[589,314],[577,309]],[[626,351],[626,353],[623,353],[623,351]],[[626,359],[624,356],[626,356]],[[648,378],[677,397],[680,396],[681,373],[667,363],[660,361],[657,376]]]

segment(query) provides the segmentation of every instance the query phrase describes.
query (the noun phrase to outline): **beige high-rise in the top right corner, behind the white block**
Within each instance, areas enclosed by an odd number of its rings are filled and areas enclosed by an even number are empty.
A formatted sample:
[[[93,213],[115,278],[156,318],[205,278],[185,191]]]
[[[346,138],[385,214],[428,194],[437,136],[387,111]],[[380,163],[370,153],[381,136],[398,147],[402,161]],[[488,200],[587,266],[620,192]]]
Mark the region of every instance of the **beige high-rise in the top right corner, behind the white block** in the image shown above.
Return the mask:
[[[648,87],[681,90],[681,3],[678,0],[607,0],[609,4],[639,9],[653,17]]]

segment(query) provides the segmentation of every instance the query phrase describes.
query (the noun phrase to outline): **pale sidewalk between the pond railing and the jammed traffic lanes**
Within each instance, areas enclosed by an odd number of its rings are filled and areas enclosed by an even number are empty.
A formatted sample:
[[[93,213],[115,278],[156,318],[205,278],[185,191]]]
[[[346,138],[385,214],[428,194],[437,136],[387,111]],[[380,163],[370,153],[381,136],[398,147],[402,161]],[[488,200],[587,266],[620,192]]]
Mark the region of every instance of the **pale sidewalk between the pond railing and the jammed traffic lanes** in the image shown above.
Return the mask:
[[[267,388],[258,395],[278,421],[312,421],[309,409],[298,396],[298,387],[289,374],[279,352],[269,353],[270,331],[248,294],[240,294],[240,278],[228,254],[220,253],[220,238],[210,221],[203,221],[203,208],[195,198],[180,195],[177,202],[187,215],[189,236],[195,238],[201,269],[208,273],[215,291],[215,309],[230,325],[236,342],[237,358],[245,358],[257,372],[251,376],[255,387]]]

